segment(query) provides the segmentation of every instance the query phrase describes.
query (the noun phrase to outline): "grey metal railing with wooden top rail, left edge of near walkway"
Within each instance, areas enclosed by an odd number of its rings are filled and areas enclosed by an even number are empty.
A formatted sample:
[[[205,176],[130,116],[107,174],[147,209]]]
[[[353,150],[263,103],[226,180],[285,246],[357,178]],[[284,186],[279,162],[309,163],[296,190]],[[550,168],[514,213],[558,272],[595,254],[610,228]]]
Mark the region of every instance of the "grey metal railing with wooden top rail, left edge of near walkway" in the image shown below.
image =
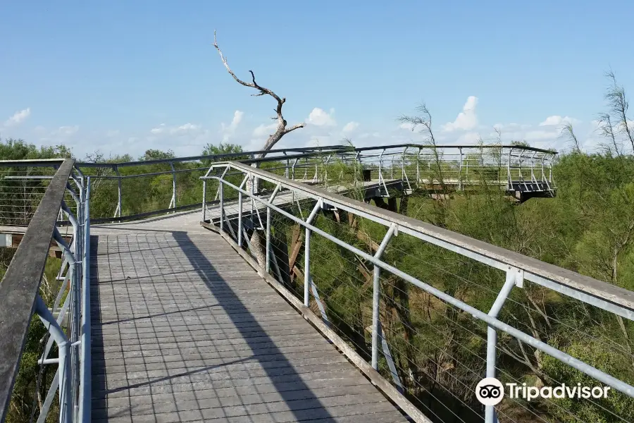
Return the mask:
[[[34,324],[31,321],[34,313],[47,332],[40,342],[42,355],[37,360],[39,375],[36,389],[39,389],[44,366],[57,367],[49,390],[39,404],[37,422],[44,422],[49,412],[57,413],[60,422],[89,421],[90,189],[89,178],[85,178],[74,165],[73,159],[11,162],[14,167],[53,166],[57,170],[48,179],[49,183],[28,220],[30,224],[0,283],[0,421],[4,421],[10,408],[13,384],[20,369],[25,341]],[[67,204],[68,197],[73,204]],[[60,213],[66,216],[72,228],[70,243],[58,230]],[[52,259],[51,240],[63,257],[55,282],[44,274],[47,262]],[[45,287],[41,286],[42,281],[46,282]],[[55,353],[54,345],[57,357],[50,357]],[[58,405],[54,406],[56,397]],[[33,417],[35,410],[31,419]]]

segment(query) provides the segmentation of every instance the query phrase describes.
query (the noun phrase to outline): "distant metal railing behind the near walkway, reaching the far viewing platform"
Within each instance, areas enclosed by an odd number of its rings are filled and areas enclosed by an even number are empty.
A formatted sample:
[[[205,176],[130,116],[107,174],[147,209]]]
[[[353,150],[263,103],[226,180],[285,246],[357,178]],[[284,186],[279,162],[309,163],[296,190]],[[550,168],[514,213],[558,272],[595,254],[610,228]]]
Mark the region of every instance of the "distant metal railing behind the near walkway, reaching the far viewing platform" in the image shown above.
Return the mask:
[[[394,188],[447,192],[482,186],[554,195],[554,152],[519,146],[392,145],[387,147],[305,147],[266,152],[216,154],[124,163],[76,163],[93,180],[93,223],[144,219],[201,206],[200,176],[212,161],[239,160],[313,185],[373,181],[377,195]],[[25,226],[52,173],[51,161],[28,161],[22,168],[0,163],[0,222]],[[218,200],[213,197],[211,203]],[[71,206],[72,202],[69,201]],[[74,207],[74,206],[73,206]],[[64,220],[61,215],[60,220]]]

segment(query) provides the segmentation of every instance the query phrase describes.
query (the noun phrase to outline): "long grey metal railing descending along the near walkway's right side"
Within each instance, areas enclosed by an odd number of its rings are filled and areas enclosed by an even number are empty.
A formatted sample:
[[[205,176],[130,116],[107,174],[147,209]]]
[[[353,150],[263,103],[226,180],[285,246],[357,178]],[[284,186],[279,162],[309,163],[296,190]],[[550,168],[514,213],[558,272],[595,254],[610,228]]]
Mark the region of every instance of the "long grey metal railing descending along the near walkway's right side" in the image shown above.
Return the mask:
[[[216,174],[213,174],[214,172]],[[236,174],[240,175],[237,180]],[[228,178],[229,175],[232,175],[231,180]],[[264,193],[245,189],[249,180],[254,178],[268,183],[269,187],[274,187],[273,191],[268,190]],[[580,307],[588,313],[588,316],[593,313],[591,309],[596,309],[599,314],[592,314],[595,316],[592,319],[603,319],[601,316],[605,314],[605,319],[614,317],[625,328],[634,320],[633,292],[246,164],[237,162],[212,164],[209,172],[202,179],[218,183],[220,233],[230,239],[239,251],[250,253],[263,274],[284,284],[294,295],[298,295],[303,300],[305,307],[314,305],[325,321],[330,320],[329,325],[335,321],[335,326],[337,324],[340,326],[339,333],[347,339],[349,345],[353,345],[356,353],[362,354],[366,350],[366,332],[370,333],[368,360],[373,369],[383,369],[383,374],[392,379],[395,388],[386,392],[392,400],[403,405],[406,400],[401,393],[413,402],[419,395],[429,398],[429,402],[418,398],[416,405],[426,412],[427,417],[416,413],[411,414],[416,421],[428,421],[428,417],[435,421],[443,421],[442,413],[454,421],[467,421],[456,414],[457,407],[452,406],[452,402],[464,407],[466,412],[472,412],[471,418],[484,417],[487,423],[498,419],[505,422],[527,421],[516,420],[513,414],[515,409],[511,407],[518,407],[523,413],[530,415],[528,421],[557,421],[517,398],[508,398],[505,400],[507,406],[497,407],[497,410],[487,405],[483,414],[478,407],[473,405],[475,398],[475,395],[472,395],[473,390],[480,379],[485,376],[498,376],[500,379],[510,381],[509,383],[515,381],[514,383],[521,386],[521,376],[516,374],[518,367],[530,368],[531,365],[535,365],[535,360],[543,366],[547,360],[542,358],[542,354],[552,357],[552,360],[560,363],[564,368],[579,372],[580,375],[585,375],[592,381],[619,391],[624,395],[623,398],[626,398],[623,401],[631,401],[627,398],[634,398],[633,372],[628,373],[629,377],[626,380],[604,372],[596,365],[592,365],[592,357],[582,357],[574,349],[566,349],[569,347],[566,342],[557,343],[557,339],[549,340],[547,334],[545,336],[542,332],[546,329],[535,326],[533,322],[518,320],[514,316],[517,307],[525,309],[530,307],[528,302],[522,302],[521,297],[525,295],[532,299],[530,293],[537,290],[544,295],[557,298],[557,302],[563,302],[565,307]],[[306,219],[303,217],[306,213],[302,212],[301,207],[298,207],[298,211],[295,212],[295,204],[285,204],[282,207],[275,205],[275,198],[289,191],[301,197],[303,205],[311,210]],[[237,201],[235,201],[236,198]],[[243,207],[245,198],[247,204],[254,202],[259,204],[259,207]],[[266,218],[261,214],[266,214]],[[343,214],[347,214],[348,221],[352,223],[348,224]],[[361,226],[363,231],[359,229]],[[266,238],[265,243],[259,243],[259,245],[265,245],[263,251],[258,251],[258,247],[254,247],[249,241],[249,238],[259,231],[262,233],[261,236]],[[371,238],[368,235],[370,231],[383,234],[382,238]],[[344,234],[349,235],[349,238],[342,239]],[[289,239],[292,240],[292,245],[285,246]],[[410,253],[404,251],[402,245],[414,246],[413,250],[419,251],[433,247],[435,255],[447,256],[447,262],[461,262],[463,266],[468,267],[469,272],[487,276],[487,283],[456,274],[443,279],[442,283],[425,281],[419,275],[424,274],[423,269],[433,264],[425,262],[424,256],[416,256],[414,259],[416,266],[404,268]],[[300,250],[303,250],[303,266]],[[389,255],[389,259],[383,259],[386,255]],[[315,267],[320,260],[325,264],[323,270]],[[346,261],[350,263],[345,263]],[[352,266],[351,269],[359,269],[360,274],[365,276],[346,274],[344,268],[348,265]],[[319,273],[316,273],[317,271]],[[437,266],[431,274],[441,274],[445,271],[447,269]],[[333,275],[337,275],[338,278]],[[428,276],[429,273],[425,275]],[[294,280],[297,280],[295,284]],[[459,283],[458,286],[456,281]],[[342,286],[355,283],[356,290],[345,288],[347,289],[345,293],[337,293]],[[463,297],[460,291],[466,290],[465,287],[469,285],[475,288],[469,291],[469,295],[464,294]],[[414,288],[416,290],[411,291]],[[492,302],[486,302],[485,307],[482,300],[478,300],[478,295],[483,292],[492,295]],[[358,301],[355,302],[355,298]],[[405,304],[403,304],[404,298],[406,298]],[[478,300],[475,305],[469,304],[474,298]],[[412,304],[410,301],[414,300],[416,301]],[[341,302],[344,304],[342,305]],[[421,309],[416,311],[414,308],[416,306]],[[369,326],[366,325],[363,311],[366,307],[371,309]],[[358,321],[354,321],[352,317],[350,319],[343,317],[341,314],[344,314],[345,309],[357,309]],[[412,314],[415,312],[423,315],[420,321],[414,321]],[[432,312],[437,313],[437,316],[433,317]],[[394,322],[390,323],[392,319],[390,313],[399,314],[401,329],[394,329]],[[428,318],[425,317],[426,314],[429,314]],[[574,334],[574,338],[582,340],[579,341],[580,345],[583,345],[583,342],[591,342],[593,348],[595,344],[598,345],[597,351],[594,351],[595,354],[602,354],[598,349],[606,348],[605,354],[614,357],[623,350],[623,357],[634,360],[634,355],[631,352],[628,353],[616,341],[609,338],[601,342],[596,341],[602,336],[601,333],[585,333],[574,324],[559,321],[556,314],[547,315],[545,307],[544,309],[531,308],[528,319],[532,320],[533,314],[542,314],[551,325],[567,325],[566,329]],[[471,320],[467,317],[471,317]],[[444,321],[442,318],[447,319],[445,324],[449,329],[445,328],[446,334],[440,330],[439,333],[424,334],[425,324],[433,323],[436,319]],[[389,335],[385,333],[386,324],[390,326]],[[357,328],[356,331],[346,329],[353,325]],[[409,328],[408,325],[410,325]],[[522,330],[517,326],[525,326],[529,329],[532,327],[535,330]],[[434,326],[430,326],[430,330],[434,329]],[[447,366],[441,365],[442,358],[432,355],[425,360],[437,361],[435,363],[437,373],[434,376],[428,372],[430,366],[418,364],[416,356],[424,357],[423,349],[430,348],[427,344],[433,340],[440,339],[441,343],[454,345],[457,341],[449,338],[449,333],[467,332],[473,333],[468,338],[471,346],[458,343],[454,353],[474,355],[475,357],[469,360],[475,367],[465,364],[466,356],[462,361],[457,358],[448,360],[451,366]],[[413,338],[417,338],[420,342],[415,345]],[[583,341],[586,339],[589,341]],[[411,349],[414,348],[418,348],[418,353],[411,353]],[[409,354],[406,352],[408,349]],[[448,349],[445,344],[444,349],[440,345],[435,351],[444,351],[442,354],[451,356],[452,353],[447,353]],[[347,350],[344,350],[344,353],[349,355],[354,362],[358,362],[359,355],[354,356],[354,352],[350,353]],[[394,355],[398,355],[399,360],[394,360]],[[530,355],[535,355],[537,358],[530,358]],[[511,361],[509,357],[514,360],[514,365],[509,364]],[[403,364],[404,362],[406,364]],[[384,363],[385,367],[380,363]],[[466,369],[462,370],[462,376],[455,376],[452,373],[458,372],[452,372],[451,369],[459,366]],[[542,367],[542,369],[534,369],[534,372],[542,374],[546,371]],[[455,379],[452,381],[454,388],[459,386],[464,392],[471,393],[469,394],[471,396],[456,395],[452,393],[450,386],[444,386],[445,379],[449,380],[451,377]],[[544,373],[542,377],[552,383],[557,381],[556,376],[552,374]],[[409,388],[404,388],[405,384]],[[524,384],[526,386],[526,381]],[[434,395],[433,386],[437,385],[445,388],[442,395],[450,398],[451,401],[442,400],[437,397],[437,394]],[[447,385],[450,384],[447,383]],[[439,405],[435,408],[428,405],[432,400]],[[442,407],[446,410],[439,410]],[[584,421],[583,415],[575,414],[575,410],[564,408],[556,400],[545,400],[544,407],[547,410],[567,412],[572,415],[571,421]],[[590,403],[590,407],[609,413],[614,419],[610,421],[628,421],[628,417],[617,415],[618,410],[609,410],[609,405]],[[407,407],[405,406],[404,409]]]

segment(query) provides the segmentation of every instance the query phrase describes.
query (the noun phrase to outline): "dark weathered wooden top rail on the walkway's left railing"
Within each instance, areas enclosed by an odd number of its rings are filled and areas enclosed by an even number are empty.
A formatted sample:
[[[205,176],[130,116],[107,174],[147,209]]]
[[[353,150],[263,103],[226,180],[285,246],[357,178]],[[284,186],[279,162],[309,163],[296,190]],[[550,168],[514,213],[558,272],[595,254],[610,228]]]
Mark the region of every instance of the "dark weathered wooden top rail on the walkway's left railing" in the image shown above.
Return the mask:
[[[8,411],[60,204],[74,164],[74,159],[66,159],[59,166],[0,283],[0,421],[4,421]]]

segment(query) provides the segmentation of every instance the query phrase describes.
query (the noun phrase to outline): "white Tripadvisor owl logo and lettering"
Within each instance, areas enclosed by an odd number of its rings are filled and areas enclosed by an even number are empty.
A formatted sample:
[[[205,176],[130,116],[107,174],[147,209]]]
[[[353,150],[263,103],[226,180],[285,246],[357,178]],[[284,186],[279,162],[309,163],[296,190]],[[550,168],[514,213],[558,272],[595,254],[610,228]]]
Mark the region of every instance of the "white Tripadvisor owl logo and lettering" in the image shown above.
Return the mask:
[[[531,401],[535,398],[607,398],[610,386],[527,386],[526,384],[504,384],[508,389],[509,398],[523,398]],[[475,386],[475,396],[484,405],[497,405],[504,398],[504,386],[495,377],[482,379]]]

